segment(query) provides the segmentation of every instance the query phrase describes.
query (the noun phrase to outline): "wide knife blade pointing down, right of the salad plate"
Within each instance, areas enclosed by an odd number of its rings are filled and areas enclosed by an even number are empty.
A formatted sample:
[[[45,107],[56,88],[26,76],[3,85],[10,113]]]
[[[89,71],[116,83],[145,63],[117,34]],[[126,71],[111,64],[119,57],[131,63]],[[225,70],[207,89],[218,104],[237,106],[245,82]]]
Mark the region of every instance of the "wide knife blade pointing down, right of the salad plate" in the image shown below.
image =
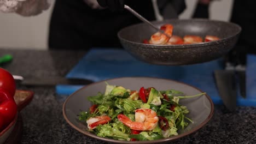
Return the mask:
[[[237,94],[235,70],[215,70],[214,77],[223,104],[229,111],[234,111]]]

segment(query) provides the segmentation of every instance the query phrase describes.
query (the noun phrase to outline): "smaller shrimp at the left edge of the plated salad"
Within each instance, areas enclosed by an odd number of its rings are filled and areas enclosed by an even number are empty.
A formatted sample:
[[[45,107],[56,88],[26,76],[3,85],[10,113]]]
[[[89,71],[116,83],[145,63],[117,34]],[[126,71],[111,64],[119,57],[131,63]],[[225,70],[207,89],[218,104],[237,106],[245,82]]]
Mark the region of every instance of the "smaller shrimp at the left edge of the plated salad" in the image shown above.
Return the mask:
[[[106,124],[111,120],[109,116],[96,116],[90,117],[86,123],[88,124],[89,129],[95,129],[100,124]]]

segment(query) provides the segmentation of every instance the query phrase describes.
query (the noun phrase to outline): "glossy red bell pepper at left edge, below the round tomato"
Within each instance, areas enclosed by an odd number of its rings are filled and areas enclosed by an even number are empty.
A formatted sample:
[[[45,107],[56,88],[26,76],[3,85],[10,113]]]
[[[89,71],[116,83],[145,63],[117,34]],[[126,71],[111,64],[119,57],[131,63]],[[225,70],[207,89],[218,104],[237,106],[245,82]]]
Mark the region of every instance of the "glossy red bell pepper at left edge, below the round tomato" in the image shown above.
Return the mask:
[[[14,98],[5,89],[0,88],[0,131],[13,121],[17,113]]]

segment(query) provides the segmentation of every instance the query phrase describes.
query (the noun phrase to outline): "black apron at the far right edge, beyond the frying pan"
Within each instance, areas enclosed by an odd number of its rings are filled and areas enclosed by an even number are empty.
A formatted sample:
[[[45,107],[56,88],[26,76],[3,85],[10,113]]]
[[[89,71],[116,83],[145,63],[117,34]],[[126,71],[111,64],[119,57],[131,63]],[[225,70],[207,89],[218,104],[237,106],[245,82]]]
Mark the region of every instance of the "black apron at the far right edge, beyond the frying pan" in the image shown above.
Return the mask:
[[[229,53],[230,61],[237,59],[239,64],[246,63],[247,53],[256,54],[256,1],[235,0],[233,3],[231,22],[242,27],[240,37],[234,49]]]

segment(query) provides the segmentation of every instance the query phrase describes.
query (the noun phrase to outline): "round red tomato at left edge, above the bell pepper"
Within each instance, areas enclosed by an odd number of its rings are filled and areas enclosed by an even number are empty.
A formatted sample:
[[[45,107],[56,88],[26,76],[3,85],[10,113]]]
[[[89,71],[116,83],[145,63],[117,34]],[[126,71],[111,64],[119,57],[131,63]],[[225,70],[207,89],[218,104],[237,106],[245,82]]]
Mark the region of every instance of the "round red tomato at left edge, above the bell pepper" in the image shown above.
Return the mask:
[[[3,68],[0,68],[0,88],[6,89],[10,93],[10,96],[14,97],[16,90],[15,80],[13,75]]]

